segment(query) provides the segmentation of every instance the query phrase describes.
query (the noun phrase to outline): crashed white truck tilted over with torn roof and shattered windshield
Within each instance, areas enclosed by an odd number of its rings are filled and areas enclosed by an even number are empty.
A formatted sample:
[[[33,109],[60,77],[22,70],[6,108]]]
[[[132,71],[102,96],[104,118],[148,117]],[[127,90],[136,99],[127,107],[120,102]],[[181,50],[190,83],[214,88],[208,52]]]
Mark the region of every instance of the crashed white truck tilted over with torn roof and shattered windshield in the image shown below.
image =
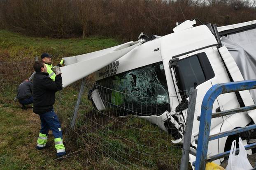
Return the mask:
[[[66,66],[61,67],[63,87],[95,72],[97,85],[134,96],[156,97],[155,113],[143,109],[147,106],[141,102],[142,110],[134,116],[147,119],[171,133],[174,143],[182,142],[188,91],[194,87],[198,94],[194,120],[191,120],[191,149],[196,150],[197,116],[207,90],[217,83],[256,79],[256,20],[223,27],[210,23],[193,27],[195,23],[195,20],[187,20],[163,37],[153,35],[149,38],[141,34],[139,41],[65,57]],[[107,107],[104,95],[97,88],[93,89],[91,101],[98,110]],[[250,106],[254,101],[255,90],[222,94],[214,102],[213,110]],[[157,109],[158,105],[161,105],[161,110]],[[215,118],[212,119],[210,135],[254,124],[255,121],[255,110]],[[245,144],[256,138],[256,133],[251,131],[240,136]],[[228,136],[210,141],[208,156],[230,150],[231,142],[237,138]],[[248,151],[251,152],[254,151]],[[195,156],[190,155],[190,161],[195,161]],[[223,159],[215,162],[220,164],[221,161]]]

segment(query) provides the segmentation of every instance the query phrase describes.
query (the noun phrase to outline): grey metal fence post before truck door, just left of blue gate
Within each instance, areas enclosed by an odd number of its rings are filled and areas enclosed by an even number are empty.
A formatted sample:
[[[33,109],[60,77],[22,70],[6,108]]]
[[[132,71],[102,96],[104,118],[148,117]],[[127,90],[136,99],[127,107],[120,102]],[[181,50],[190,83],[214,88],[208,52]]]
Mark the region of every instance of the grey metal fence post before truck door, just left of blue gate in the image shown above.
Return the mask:
[[[189,91],[189,106],[186,117],[186,127],[185,134],[183,140],[183,148],[182,148],[182,161],[180,165],[180,170],[187,170],[189,163],[189,150],[191,143],[191,134],[193,127],[193,119],[195,113],[195,101],[196,101],[197,89],[190,88]]]

